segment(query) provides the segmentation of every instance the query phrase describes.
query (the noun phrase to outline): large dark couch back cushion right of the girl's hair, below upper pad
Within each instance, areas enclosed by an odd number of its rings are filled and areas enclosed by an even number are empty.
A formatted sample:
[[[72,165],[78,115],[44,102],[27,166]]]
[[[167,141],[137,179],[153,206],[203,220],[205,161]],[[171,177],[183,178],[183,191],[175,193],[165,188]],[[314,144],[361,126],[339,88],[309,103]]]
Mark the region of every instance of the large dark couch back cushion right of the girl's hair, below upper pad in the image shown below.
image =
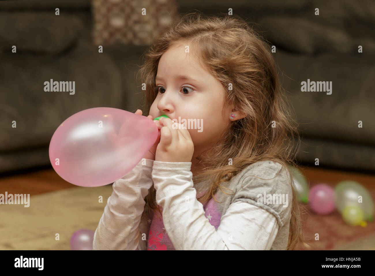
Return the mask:
[[[275,59],[304,137],[375,145],[375,54],[310,57],[278,51]],[[308,79],[332,81],[332,94],[301,91]]]

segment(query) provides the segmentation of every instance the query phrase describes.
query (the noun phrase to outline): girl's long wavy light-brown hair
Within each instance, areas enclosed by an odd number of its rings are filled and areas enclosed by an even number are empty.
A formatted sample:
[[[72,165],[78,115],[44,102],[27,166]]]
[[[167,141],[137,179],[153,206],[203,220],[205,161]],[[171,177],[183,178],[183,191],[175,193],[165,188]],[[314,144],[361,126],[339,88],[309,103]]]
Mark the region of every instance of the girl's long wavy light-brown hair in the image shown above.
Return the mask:
[[[177,22],[155,37],[145,51],[144,63],[137,73],[139,83],[145,83],[146,116],[157,96],[154,87],[159,59],[180,41],[197,45],[199,52],[195,55],[222,83],[226,91],[223,110],[233,105],[235,110],[247,115],[231,122],[219,142],[197,157],[197,166],[202,170],[193,182],[207,180],[210,183],[198,201],[204,204],[214,198],[217,189],[225,189],[226,181],[255,162],[272,160],[284,167],[297,166],[294,161],[297,146],[293,142],[297,140],[299,145],[300,137],[296,121],[290,115],[286,99],[283,99],[270,47],[259,33],[236,15],[182,14]],[[233,84],[233,90],[228,90],[229,83]],[[271,127],[273,121],[276,127]],[[228,164],[229,158],[233,160],[231,165]],[[298,242],[310,248],[302,234],[300,208],[291,173],[289,180],[293,203],[287,250],[295,249]],[[146,207],[159,210],[162,215],[155,198],[156,190],[152,186],[145,198]]]

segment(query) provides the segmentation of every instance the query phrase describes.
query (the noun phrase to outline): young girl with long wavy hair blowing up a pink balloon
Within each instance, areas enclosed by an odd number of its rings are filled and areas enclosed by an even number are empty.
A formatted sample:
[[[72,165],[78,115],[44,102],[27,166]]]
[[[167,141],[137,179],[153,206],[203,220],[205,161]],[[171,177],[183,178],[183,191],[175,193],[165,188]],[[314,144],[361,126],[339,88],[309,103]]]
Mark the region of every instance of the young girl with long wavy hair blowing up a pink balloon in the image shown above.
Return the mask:
[[[154,146],[114,182],[93,249],[294,249],[297,131],[262,38],[240,17],[185,14],[139,74],[148,118],[169,118],[155,121]]]

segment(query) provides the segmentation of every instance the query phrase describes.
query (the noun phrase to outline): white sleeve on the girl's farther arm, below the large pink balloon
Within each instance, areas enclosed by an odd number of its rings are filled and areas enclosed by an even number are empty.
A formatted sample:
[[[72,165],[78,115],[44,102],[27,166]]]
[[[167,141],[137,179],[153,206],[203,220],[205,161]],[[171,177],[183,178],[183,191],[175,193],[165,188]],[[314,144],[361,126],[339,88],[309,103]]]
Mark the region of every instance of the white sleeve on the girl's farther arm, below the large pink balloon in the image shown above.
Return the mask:
[[[144,198],[153,184],[153,162],[143,158],[123,178],[113,183],[112,195],[94,233],[93,250],[145,250],[147,240],[141,239],[139,224],[145,206]]]

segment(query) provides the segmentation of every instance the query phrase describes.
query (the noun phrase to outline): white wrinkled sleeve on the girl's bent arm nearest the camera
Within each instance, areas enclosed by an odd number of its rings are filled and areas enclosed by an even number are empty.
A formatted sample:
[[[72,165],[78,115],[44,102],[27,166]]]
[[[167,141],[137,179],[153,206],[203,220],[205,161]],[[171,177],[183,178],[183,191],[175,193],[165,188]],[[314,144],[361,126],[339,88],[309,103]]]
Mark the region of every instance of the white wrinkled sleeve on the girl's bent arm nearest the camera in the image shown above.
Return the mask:
[[[176,250],[270,249],[278,232],[274,214],[248,202],[229,206],[220,225],[210,224],[196,199],[191,162],[154,161],[152,179],[163,223]]]

